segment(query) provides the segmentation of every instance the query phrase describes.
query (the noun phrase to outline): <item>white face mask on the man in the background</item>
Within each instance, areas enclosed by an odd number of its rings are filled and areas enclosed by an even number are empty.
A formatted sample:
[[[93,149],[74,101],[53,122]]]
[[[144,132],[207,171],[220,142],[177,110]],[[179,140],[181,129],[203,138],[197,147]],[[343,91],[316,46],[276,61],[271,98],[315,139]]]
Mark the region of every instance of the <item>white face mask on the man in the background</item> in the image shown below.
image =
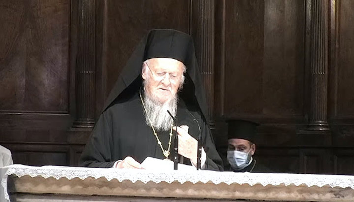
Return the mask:
[[[248,152],[242,151],[227,151],[227,159],[231,167],[235,170],[241,170],[246,168],[252,162],[252,155],[250,153],[251,149]]]

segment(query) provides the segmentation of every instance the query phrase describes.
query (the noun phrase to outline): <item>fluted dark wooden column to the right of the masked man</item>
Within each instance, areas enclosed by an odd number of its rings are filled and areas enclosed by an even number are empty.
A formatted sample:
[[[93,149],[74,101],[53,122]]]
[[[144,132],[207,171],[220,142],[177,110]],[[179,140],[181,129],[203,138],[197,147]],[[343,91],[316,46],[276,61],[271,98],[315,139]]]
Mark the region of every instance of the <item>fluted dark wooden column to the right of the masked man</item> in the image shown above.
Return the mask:
[[[309,2],[311,98],[307,130],[327,131],[329,1]]]

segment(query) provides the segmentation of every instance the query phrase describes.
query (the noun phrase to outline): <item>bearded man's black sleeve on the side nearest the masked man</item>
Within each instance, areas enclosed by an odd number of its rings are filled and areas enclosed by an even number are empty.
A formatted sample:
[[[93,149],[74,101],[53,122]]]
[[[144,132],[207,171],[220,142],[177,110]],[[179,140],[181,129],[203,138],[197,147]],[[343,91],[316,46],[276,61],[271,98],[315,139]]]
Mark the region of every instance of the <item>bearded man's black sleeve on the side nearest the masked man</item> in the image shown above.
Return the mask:
[[[210,128],[207,123],[204,123],[202,127],[202,134],[204,134],[202,140],[203,148],[207,154],[204,170],[223,171],[223,163],[219,153],[216,151]]]

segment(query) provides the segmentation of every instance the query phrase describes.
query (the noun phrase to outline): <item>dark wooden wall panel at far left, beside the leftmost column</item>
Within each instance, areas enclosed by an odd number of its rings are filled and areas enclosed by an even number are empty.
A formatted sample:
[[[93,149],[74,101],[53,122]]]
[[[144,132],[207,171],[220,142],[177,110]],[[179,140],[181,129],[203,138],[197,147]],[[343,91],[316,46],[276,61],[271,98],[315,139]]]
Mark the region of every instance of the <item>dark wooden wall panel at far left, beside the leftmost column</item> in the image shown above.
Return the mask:
[[[70,1],[1,4],[0,111],[67,113]]]

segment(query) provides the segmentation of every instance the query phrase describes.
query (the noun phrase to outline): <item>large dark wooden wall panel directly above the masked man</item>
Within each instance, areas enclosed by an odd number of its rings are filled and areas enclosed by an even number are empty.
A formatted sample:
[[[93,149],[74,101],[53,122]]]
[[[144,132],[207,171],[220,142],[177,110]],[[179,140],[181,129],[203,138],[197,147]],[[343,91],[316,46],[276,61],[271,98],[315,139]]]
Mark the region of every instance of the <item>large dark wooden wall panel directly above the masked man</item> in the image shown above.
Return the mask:
[[[304,1],[225,3],[223,116],[303,118]]]

